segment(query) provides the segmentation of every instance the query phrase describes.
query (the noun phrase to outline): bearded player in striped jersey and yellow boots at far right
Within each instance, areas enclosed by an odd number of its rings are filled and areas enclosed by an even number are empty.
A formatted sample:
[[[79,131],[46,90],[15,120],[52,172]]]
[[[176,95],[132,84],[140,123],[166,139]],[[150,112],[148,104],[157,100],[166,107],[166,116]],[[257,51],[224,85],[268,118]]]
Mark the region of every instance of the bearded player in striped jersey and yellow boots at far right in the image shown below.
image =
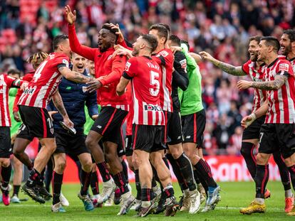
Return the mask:
[[[249,87],[267,90],[266,102],[242,119],[242,126],[248,126],[257,117],[266,114],[259,136],[259,153],[257,154],[257,172],[255,176],[256,198],[252,203],[240,210],[243,214],[265,212],[264,193],[269,179],[268,161],[271,153],[281,151],[286,166],[295,183],[295,77],[291,63],[284,58],[278,58],[279,41],[274,37],[263,37],[259,43],[257,61],[264,62],[264,82],[249,82],[240,80],[239,90]],[[295,186],[294,186],[295,188]],[[295,215],[289,212],[288,215]]]

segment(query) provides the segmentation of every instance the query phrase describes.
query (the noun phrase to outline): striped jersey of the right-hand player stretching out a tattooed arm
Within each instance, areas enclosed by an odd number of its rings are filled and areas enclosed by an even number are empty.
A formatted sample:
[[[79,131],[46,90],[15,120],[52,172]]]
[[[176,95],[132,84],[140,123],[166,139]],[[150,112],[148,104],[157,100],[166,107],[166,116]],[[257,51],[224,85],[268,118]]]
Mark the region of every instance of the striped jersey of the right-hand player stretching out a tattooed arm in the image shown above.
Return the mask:
[[[258,70],[256,70],[255,66],[256,66],[256,62],[252,60],[248,60],[247,63],[244,63],[244,65],[242,66],[242,70],[247,75],[249,75],[254,82],[262,82],[264,79],[264,70],[266,68],[266,65],[260,66]],[[254,88],[252,112],[257,111],[257,109],[259,109],[259,107],[262,106],[265,99],[266,99],[266,91]]]

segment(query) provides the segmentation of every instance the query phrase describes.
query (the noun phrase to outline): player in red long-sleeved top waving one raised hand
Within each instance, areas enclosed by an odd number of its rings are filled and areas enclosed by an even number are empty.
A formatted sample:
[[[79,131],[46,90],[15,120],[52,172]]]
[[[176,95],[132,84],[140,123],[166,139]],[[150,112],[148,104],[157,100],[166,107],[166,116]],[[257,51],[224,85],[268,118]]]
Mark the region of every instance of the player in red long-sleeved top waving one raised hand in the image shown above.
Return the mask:
[[[115,88],[125,68],[126,57],[113,56],[115,51],[113,45],[117,41],[117,36],[115,35],[116,31],[108,24],[104,24],[98,32],[98,48],[81,45],[75,30],[76,11],[72,13],[70,7],[66,6],[65,13],[71,49],[84,58],[94,61],[95,77],[98,78],[95,84],[88,86],[87,90],[90,92],[98,90],[98,102],[100,102],[102,109],[86,138],[86,146],[90,149],[103,178],[103,191],[98,203],[104,203],[108,200],[110,194],[115,190],[115,185],[117,185],[122,194],[118,215],[124,215],[135,203],[135,198],[128,188],[123,166],[117,153],[118,144],[122,140],[121,126],[128,114],[129,105],[127,97],[125,95],[118,96]],[[108,159],[115,185],[105,163],[103,151],[98,144],[100,140],[103,141],[105,156]]]

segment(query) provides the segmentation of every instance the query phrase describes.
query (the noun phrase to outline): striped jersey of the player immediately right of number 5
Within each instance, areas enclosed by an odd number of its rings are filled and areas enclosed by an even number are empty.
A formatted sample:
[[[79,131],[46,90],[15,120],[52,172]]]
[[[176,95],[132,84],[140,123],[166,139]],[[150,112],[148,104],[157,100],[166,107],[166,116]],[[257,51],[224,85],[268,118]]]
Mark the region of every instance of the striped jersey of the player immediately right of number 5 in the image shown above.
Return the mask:
[[[160,87],[161,107],[164,111],[173,112],[171,93],[174,55],[172,50],[164,48],[157,53],[155,59],[162,68],[162,87]]]

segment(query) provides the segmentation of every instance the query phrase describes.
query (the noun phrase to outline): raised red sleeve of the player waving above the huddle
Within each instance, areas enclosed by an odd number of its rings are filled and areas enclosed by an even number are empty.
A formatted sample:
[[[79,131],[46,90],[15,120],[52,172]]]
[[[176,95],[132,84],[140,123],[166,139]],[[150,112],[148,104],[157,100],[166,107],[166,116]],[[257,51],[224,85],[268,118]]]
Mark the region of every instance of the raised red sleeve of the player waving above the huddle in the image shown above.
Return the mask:
[[[78,55],[81,55],[89,60],[94,60],[95,51],[98,49],[81,45],[81,43],[78,41],[74,24],[68,25],[68,40],[70,41],[71,50],[74,53],[77,53]]]

